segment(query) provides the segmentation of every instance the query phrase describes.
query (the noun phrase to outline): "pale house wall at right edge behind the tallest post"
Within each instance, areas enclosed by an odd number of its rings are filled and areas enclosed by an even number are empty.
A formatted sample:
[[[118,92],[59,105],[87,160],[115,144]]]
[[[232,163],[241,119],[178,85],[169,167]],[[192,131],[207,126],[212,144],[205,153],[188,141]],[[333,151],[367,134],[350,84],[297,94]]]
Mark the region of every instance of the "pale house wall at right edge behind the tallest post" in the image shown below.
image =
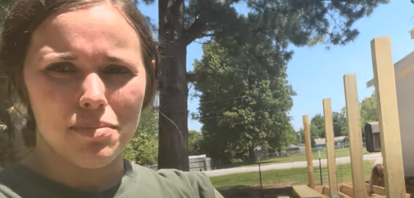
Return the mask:
[[[414,28],[410,33],[414,34]],[[414,51],[394,63],[394,74],[404,175],[412,177],[414,176]],[[371,86],[374,86],[374,79],[367,82],[367,87]]]

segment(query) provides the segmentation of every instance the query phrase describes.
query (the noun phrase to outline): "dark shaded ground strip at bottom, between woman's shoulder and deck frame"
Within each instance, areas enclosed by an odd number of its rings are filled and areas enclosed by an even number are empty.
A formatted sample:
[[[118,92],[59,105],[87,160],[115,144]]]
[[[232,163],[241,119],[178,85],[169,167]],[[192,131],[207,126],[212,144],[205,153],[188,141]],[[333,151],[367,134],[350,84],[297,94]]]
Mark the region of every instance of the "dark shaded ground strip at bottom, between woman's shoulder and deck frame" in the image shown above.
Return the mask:
[[[264,198],[275,198],[278,196],[292,196],[292,187],[284,188],[265,188],[250,186],[231,186],[217,189],[225,198],[261,198],[263,193]]]

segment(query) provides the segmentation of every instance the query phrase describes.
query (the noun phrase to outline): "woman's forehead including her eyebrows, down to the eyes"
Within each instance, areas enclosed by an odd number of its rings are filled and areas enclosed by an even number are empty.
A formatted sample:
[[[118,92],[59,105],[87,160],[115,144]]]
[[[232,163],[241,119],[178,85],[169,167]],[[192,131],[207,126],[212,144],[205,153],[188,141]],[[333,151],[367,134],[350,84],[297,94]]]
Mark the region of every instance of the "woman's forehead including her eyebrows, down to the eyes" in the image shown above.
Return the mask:
[[[28,58],[38,61],[67,52],[91,58],[114,53],[128,59],[142,58],[137,32],[117,8],[107,3],[46,18],[33,32]]]

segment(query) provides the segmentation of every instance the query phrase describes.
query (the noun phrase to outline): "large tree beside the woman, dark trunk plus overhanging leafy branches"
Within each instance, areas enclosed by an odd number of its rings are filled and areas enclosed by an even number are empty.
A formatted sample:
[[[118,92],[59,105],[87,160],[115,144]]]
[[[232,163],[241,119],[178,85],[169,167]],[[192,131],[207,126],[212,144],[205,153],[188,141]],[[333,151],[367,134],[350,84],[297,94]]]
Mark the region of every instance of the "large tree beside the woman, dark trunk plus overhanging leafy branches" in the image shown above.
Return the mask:
[[[155,0],[143,0],[153,3]],[[255,43],[257,35],[275,48],[318,42],[345,45],[358,31],[352,26],[389,0],[158,0],[159,39],[164,43],[160,68],[159,168],[188,170],[186,47],[197,38],[238,44]],[[237,13],[242,4],[247,15]],[[186,4],[184,6],[184,4]],[[288,59],[289,57],[285,57]]]

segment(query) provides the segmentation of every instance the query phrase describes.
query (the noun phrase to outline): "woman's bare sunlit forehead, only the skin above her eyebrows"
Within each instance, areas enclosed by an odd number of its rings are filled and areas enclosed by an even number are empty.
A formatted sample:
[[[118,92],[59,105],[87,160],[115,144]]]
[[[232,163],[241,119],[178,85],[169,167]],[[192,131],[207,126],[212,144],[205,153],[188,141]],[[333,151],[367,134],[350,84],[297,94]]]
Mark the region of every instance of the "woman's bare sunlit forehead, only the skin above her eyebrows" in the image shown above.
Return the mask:
[[[51,15],[33,32],[33,40],[56,45],[101,42],[103,37],[119,48],[140,44],[135,29],[117,8],[107,3]]]

